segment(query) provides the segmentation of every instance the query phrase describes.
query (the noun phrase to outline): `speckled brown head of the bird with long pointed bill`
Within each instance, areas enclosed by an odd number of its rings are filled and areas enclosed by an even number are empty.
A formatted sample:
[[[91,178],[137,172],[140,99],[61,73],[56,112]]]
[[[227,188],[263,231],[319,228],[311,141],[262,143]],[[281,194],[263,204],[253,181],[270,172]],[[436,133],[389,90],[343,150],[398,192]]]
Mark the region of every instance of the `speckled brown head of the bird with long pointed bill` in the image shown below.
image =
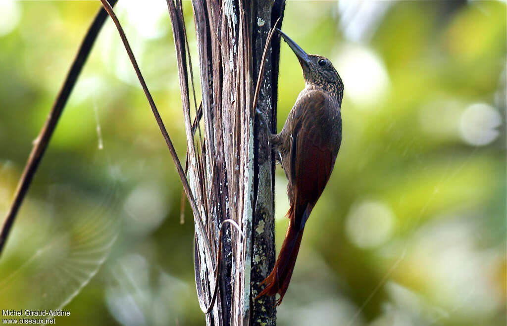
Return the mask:
[[[292,38],[279,29],[277,31],[298,57],[301,68],[303,68],[305,84],[328,91],[341,102],[343,82],[331,61],[319,55],[307,54]]]

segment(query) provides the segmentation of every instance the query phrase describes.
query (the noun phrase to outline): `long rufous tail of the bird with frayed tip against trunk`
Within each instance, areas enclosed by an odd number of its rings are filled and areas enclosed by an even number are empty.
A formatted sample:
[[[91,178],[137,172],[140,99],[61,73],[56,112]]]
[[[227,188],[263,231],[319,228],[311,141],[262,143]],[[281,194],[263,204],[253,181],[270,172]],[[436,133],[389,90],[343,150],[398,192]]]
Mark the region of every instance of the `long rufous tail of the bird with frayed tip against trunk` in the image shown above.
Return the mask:
[[[292,209],[289,210],[289,215],[291,214],[294,214],[294,210]],[[287,233],[285,234],[280,254],[278,254],[278,259],[271,274],[261,282],[261,284],[266,284],[266,288],[259,293],[256,300],[263,295],[274,296],[278,293],[280,298],[276,302],[276,305],[279,305],[287,291],[288,283],[291,281],[292,272],[296,265],[301,238],[303,237],[303,228],[299,229],[299,227],[294,225],[293,216],[289,216],[289,218]]]

